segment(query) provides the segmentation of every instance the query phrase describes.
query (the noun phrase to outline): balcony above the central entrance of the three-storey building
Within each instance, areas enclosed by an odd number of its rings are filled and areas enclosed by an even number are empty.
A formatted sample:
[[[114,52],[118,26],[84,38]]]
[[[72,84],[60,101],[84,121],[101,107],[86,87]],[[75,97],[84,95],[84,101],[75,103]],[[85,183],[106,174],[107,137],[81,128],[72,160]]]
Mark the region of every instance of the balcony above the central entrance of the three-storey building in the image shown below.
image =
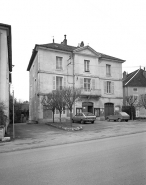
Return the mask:
[[[101,89],[82,89],[81,96],[100,97],[101,96]]]

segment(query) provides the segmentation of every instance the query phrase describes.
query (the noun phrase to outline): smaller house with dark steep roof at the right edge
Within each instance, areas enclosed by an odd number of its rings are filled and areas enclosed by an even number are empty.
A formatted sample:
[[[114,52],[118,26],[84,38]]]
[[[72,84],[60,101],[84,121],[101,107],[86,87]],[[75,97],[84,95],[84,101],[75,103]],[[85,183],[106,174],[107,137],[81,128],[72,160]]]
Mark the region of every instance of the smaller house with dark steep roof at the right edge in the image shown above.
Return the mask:
[[[127,74],[123,73],[123,105],[128,105],[126,102],[127,96],[136,97],[138,103],[139,96],[146,94],[146,71],[145,68],[133,71]],[[144,108],[136,107],[136,117],[146,117],[146,110]]]

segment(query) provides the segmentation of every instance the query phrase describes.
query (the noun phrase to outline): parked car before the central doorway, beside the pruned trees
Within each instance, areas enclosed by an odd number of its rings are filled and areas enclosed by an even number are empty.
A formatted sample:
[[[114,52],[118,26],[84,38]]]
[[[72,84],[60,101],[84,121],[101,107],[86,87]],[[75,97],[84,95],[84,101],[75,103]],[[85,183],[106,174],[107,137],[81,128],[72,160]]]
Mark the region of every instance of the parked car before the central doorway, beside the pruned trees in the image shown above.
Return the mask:
[[[80,123],[85,123],[85,122],[91,122],[94,123],[96,120],[96,116],[90,112],[80,112],[77,113],[75,116],[72,117],[72,122],[80,122]]]

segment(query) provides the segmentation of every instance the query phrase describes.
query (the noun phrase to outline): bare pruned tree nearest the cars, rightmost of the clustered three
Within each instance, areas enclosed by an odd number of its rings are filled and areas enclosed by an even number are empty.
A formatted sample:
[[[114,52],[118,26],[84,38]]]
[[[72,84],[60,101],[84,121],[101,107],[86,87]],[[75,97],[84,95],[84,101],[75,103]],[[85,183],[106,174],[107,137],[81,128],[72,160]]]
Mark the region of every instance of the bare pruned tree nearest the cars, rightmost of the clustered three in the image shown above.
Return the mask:
[[[70,120],[72,126],[72,108],[75,100],[79,98],[81,95],[81,89],[73,88],[73,87],[66,87],[63,89],[63,98],[66,103],[67,108],[70,111]]]

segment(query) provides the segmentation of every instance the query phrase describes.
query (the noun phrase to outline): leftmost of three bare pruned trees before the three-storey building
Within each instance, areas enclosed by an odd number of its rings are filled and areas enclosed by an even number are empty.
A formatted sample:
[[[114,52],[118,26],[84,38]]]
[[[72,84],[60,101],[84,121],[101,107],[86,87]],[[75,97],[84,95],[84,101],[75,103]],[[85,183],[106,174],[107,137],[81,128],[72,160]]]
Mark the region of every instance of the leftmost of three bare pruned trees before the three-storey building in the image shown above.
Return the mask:
[[[51,92],[51,93],[43,95],[41,103],[46,109],[52,111],[53,123],[54,123],[54,113],[55,113],[55,108],[56,108],[56,104],[55,104],[56,102],[54,101],[54,93]]]

